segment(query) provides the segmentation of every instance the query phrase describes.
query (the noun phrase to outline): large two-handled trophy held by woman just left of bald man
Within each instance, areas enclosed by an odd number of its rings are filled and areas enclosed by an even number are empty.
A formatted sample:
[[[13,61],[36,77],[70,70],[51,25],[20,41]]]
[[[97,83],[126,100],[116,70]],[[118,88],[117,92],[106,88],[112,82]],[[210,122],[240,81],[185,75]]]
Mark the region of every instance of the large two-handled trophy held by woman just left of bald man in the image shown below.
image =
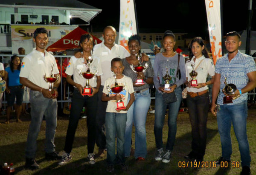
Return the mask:
[[[96,71],[96,73],[92,73],[90,72],[90,63],[93,62],[93,58],[91,56],[86,58],[86,65],[88,66],[88,69],[86,72],[82,72],[82,69],[80,69],[78,71],[79,75],[81,76],[81,78],[85,78],[87,79],[86,81],[86,85],[84,86],[84,90],[83,90],[83,95],[92,95],[92,89],[90,88],[90,84],[89,84],[89,79],[94,79],[96,78],[96,76],[98,75],[98,71]]]

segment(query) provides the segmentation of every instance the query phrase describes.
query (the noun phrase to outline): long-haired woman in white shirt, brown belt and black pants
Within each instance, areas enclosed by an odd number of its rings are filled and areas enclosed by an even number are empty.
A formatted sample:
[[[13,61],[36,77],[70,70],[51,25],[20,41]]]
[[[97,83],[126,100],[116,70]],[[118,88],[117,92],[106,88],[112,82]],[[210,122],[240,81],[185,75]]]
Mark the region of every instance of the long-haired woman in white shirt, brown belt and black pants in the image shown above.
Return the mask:
[[[191,86],[189,73],[193,67],[198,73],[197,85]],[[195,37],[189,44],[189,60],[186,61],[186,82],[187,98],[186,103],[189,109],[189,119],[192,127],[192,151],[184,158],[195,161],[203,161],[207,138],[207,116],[210,99],[207,85],[214,80],[214,65],[209,58],[208,51],[201,37]],[[208,74],[211,79],[206,82]]]

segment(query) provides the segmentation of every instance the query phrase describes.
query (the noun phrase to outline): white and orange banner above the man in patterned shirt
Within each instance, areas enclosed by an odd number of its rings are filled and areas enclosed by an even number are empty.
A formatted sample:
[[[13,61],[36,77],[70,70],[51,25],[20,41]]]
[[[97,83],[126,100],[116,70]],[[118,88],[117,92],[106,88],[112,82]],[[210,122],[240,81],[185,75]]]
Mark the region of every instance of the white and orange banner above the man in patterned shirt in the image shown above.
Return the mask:
[[[221,6],[220,0],[205,0],[209,38],[214,64],[222,56],[221,51]]]

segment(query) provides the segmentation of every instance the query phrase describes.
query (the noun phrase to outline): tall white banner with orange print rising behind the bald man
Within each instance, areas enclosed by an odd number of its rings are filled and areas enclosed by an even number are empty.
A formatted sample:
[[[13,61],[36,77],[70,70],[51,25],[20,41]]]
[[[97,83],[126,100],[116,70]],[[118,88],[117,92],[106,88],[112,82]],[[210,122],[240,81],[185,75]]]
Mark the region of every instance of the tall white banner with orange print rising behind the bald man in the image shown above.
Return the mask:
[[[133,0],[120,0],[120,22],[118,44],[128,51],[128,38],[137,34],[136,18]]]

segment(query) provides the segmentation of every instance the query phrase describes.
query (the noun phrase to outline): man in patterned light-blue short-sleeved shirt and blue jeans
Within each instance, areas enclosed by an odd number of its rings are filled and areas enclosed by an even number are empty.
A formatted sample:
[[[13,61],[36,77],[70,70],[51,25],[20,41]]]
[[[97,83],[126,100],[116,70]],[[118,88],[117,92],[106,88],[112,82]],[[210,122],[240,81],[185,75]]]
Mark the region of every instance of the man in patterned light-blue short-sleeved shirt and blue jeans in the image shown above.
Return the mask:
[[[240,37],[236,31],[231,31],[226,35],[225,46],[228,54],[218,59],[215,65],[211,112],[215,116],[217,114],[218,132],[221,137],[222,155],[216,164],[230,163],[232,154],[230,128],[233,123],[241,155],[241,175],[250,175],[251,158],[246,133],[247,92],[256,87],[256,66],[251,56],[239,52]],[[222,92],[225,87],[225,77],[227,84],[232,83],[237,87],[236,92],[231,95],[233,102],[227,104],[223,103],[225,94]],[[217,107],[215,108],[217,96]]]

